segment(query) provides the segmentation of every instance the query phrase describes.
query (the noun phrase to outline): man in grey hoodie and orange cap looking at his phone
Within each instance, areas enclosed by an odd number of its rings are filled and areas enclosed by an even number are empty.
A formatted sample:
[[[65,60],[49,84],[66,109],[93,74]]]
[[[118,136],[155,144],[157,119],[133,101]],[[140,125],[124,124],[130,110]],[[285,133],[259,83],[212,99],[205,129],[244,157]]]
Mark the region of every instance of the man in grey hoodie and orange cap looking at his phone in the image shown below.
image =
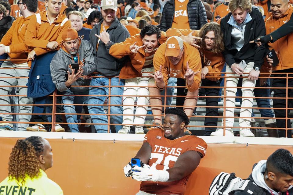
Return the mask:
[[[73,105],[74,96],[68,95],[88,95],[89,88],[82,86],[89,86],[91,80],[82,77],[89,75],[96,70],[93,63],[94,56],[92,45],[86,40],[81,40],[78,37],[76,30],[68,28],[62,34],[61,49],[57,51],[50,63],[50,70],[53,83],[61,92],[62,104],[68,123],[78,123],[77,115]],[[87,77],[87,76],[85,76]],[[71,87],[79,86],[79,87]],[[85,104],[88,104],[88,96],[81,96]],[[71,132],[79,132],[77,124],[68,124]]]

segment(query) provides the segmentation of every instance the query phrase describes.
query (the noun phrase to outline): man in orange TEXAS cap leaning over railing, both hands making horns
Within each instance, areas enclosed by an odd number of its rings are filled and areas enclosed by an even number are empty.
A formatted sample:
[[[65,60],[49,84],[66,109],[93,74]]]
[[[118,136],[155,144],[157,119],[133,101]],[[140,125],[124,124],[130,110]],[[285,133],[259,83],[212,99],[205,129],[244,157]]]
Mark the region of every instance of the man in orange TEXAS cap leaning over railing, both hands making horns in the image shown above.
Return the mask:
[[[187,95],[183,111],[190,117],[196,105],[198,88],[201,82],[201,57],[197,48],[184,42],[178,36],[169,37],[166,43],[161,44],[154,55],[155,85],[159,90],[165,89],[170,77],[185,79]],[[162,105],[157,100],[155,105]],[[152,109],[154,115],[162,114],[162,107]]]

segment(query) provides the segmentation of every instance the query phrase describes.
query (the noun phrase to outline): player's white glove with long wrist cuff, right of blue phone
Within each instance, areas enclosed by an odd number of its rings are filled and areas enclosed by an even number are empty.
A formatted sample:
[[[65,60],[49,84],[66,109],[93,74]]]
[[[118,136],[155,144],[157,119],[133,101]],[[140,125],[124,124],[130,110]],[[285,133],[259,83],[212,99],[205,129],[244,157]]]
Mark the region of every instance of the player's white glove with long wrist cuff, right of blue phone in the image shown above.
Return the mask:
[[[153,181],[153,182],[166,182],[169,179],[168,171],[161,171],[154,168],[148,167],[132,167],[133,170],[138,170],[139,172],[131,172],[131,176],[136,181]]]

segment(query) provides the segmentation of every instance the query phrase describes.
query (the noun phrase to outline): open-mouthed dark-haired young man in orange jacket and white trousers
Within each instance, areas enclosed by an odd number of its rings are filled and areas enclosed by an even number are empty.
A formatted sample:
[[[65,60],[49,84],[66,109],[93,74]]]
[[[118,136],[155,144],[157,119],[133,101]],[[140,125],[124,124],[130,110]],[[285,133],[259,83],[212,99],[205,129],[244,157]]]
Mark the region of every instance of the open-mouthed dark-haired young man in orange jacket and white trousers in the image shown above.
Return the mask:
[[[167,40],[164,32],[154,25],[143,27],[140,34],[127,38],[124,42],[116,43],[111,46],[110,54],[115,58],[121,59],[128,55],[131,62],[126,63],[121,69],[119,78],[125,79],[123,95],[123,124],[118,133],[129,133],[130,126],[135,125],[135,133],[143,134],[143,124],[147,107],[149,104],[149,91],[147,85],[149,78],[147,73],[154,72],[153,58],[160,44]],[[138,86],[138,87],[127,87]],[[149,88],[149,90],[151,90]],[[133,120],[134,102],[137,98],[136,115]],[[129,106],[130,105],[130,106]]]

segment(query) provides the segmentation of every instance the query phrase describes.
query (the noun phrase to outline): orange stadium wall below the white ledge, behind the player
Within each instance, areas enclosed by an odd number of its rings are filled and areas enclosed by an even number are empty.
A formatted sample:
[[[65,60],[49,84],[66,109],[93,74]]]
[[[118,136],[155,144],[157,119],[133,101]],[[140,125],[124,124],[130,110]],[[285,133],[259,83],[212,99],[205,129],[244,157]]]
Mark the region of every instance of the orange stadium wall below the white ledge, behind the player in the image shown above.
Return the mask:
[[[9,155],[17,139],[0,137],[1,181],[7,176]],[[126,178],[123,167],[139,150],[142,141],[48,140],[54,165],[46,172],[64,194],[126,195],[139,190],[140,182]],[[206,156],[190,177],[185,194],[208,194],[212,179],[221,171],[247,178],[254,163],[266,159],[278,148],[293,152],[292,146],[284,145],[208,144]]]

